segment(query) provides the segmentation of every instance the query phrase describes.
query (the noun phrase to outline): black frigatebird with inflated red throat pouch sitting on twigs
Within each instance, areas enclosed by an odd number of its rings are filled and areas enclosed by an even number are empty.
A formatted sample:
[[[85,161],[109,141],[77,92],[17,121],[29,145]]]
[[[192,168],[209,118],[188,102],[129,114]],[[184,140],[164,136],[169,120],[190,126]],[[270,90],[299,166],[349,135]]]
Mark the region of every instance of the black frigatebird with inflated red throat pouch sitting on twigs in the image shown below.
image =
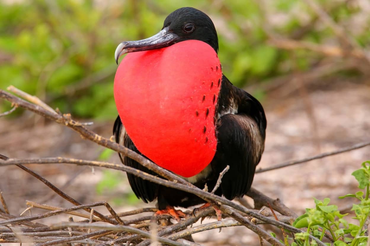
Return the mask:
[[[234,86],[222,73],[218,35],[201,10],[182,7],[152,37],[121,42],[114,79],[118,117],[113,135],[120,145],[203,189],[229,200],[250,189],[265,148],[266,115],[262,104]],[[157,175],[121,154],[122,163]],[[157,175],[158,176],[158,175]],[[175,219],[188,208],[209,204],[194,194],[127,174],[135,195],[157,199],[159,212]],[[202,208],[201,207],[201,208]]]

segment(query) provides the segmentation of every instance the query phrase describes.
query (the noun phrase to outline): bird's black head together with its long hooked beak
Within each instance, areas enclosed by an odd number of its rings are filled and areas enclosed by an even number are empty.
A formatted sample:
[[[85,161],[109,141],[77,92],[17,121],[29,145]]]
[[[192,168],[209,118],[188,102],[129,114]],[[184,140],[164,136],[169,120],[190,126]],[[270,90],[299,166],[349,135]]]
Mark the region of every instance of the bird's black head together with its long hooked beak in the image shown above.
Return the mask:
[[[115,59],[128,52],[164,48],[181,41],[196,39],[206,42],[218,52],[218,38],[211,18],[196,8],[179,8],[169,14],[160,32],[137,41],[125,41],[118,45]]]

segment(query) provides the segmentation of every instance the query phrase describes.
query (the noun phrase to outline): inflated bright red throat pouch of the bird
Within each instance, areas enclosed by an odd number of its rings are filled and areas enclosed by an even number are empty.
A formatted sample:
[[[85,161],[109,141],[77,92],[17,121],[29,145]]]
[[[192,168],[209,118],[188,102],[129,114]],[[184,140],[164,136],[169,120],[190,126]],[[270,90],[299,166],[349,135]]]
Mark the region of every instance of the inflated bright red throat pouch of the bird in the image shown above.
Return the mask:
[[[114,78],[114,99],[138,150],[175,174],[201,172],[216,152],[221,79],[216,52],[201,41],[126,55]]]

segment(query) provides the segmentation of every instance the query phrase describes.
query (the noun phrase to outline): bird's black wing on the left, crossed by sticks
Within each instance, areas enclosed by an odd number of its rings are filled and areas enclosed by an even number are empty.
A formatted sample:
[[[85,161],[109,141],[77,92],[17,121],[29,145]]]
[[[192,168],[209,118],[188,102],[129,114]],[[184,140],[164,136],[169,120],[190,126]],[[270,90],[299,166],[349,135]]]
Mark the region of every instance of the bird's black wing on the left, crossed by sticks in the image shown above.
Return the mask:
[[[120,116],[117,117],[117,119],[114,122],[113,126],[113,135],[115,136],[115,141],[121,145],[124,145],[125,147],[134,150],[135,152],[142,155],[139,150],[136,148],[134,143],[132,142],[131,138],[127,135],[125,131],[124,125],[122,125]],[[123,164],[134,167],[136,169],[139,169],[141,171],[144,171],[146,173],[157,175],[153,171],[147,169],[146,167],[142,166],[135,160],[130,159],[127,156],[123,156],[121,154],[120,158]],[[152,183],[150,181],[141,179],[133,174],[127,173],[127,178],[130,183],[130,186],[132,190],[134,191],[135,195],[138,198],[141,198],[144,202],[151,202],[158,196],[158,184]]]

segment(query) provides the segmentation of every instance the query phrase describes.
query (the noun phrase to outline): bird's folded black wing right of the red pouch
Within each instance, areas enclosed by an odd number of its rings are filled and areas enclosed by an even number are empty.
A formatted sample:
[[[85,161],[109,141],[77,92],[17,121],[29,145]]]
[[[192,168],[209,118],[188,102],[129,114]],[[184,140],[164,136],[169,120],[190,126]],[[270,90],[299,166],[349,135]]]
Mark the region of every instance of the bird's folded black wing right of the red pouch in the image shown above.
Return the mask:
[[[232,86],[227,79],[225,83]],[[262,105],[250,94],[234,86],[230,93],[236,98],[237,113],[218,119],[218,144],[212,169],[218,174],[229,165],[221,189],[232,200],[246,194],[252,185],[265,146],[266,118]]]

